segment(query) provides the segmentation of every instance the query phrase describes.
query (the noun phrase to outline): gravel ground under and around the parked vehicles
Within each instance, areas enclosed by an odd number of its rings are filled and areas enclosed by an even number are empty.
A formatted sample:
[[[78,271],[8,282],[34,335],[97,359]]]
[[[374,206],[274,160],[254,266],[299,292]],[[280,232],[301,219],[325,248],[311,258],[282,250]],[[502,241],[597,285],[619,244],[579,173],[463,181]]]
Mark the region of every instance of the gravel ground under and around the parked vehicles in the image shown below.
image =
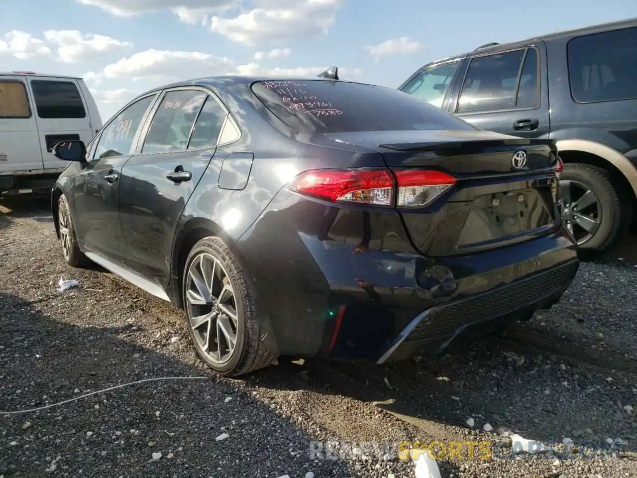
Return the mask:
[[[56,291],[61,276],[81,289]],[[0,414],[0,478],[413,477],[413,464],[391,449],[361,443],[401,440],[488,440],[501,457],[465,450],[439,461],[443,478],[637,477],[636,304],[637,254],[626,245],[582,264],[552,310],[438,359],[383,367],[282,359],[221,379],[196,358],[178,310],[97,266],[62,262],[46,201],[3,199],[0,411],[195,378]],[[557,442],[558,452],[565,437],[580,447],[568,460],[508,459],[503,430]],[[608,438],[622,440],[619,453],[577,458]],[[338,445],[331,459],[312,460],[311,442]]]

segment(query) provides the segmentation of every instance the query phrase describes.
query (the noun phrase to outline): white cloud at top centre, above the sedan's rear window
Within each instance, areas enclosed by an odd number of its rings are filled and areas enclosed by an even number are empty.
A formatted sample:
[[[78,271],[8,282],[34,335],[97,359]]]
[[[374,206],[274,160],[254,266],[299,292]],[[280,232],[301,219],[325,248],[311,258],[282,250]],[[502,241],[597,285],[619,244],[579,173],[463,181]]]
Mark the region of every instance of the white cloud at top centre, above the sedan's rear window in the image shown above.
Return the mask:
[[[342,0],[255,0],[257,8],[234,18],[212,17],[211,29],[245,45],[325,34]]]

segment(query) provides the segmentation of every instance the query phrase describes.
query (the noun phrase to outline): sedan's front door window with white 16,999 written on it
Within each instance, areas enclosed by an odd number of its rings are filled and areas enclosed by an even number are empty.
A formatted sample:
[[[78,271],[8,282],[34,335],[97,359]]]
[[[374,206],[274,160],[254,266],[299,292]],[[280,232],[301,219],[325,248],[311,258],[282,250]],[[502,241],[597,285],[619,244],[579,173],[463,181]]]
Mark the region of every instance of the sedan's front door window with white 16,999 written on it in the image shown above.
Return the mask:
[[[94,159],[132,154],[132,140],[140,129],[148,106],[155,95],[146,96],[128,106],[104,128],[97,142]]]

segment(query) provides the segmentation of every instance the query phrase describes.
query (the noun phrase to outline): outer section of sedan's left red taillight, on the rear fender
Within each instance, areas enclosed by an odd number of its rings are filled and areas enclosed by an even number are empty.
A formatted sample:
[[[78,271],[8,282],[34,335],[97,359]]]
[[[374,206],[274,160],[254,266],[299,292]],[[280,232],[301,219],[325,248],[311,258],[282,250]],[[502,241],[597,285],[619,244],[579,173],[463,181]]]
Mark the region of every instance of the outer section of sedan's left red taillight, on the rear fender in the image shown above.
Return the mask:
[[[328,201],[391,206],[394,178],[389,170],[311,170],[290,184],[292,191]]]

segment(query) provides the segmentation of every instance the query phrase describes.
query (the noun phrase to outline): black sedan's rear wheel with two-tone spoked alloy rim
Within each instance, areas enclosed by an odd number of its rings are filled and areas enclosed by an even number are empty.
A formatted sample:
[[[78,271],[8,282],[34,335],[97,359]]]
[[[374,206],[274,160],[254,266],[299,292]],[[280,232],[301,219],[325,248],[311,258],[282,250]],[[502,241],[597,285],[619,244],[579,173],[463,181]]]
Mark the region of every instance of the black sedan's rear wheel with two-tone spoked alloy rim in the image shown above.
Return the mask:
[[[197,354],[221,375],[238,376],[275,361],[261,331],[243,270],[222,239],[197,242],[182,279],[183,305]]]

